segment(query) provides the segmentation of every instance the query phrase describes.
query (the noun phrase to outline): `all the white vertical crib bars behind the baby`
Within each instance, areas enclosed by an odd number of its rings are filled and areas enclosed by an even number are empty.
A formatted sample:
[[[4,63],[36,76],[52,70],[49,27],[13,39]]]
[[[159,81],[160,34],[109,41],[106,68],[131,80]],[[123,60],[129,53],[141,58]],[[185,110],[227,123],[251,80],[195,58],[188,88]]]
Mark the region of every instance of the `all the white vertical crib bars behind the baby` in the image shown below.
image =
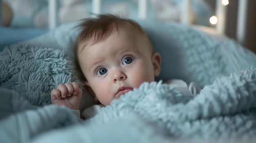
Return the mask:
[[[147,19],[148,15],[148,2],[149,0],[138,0],[138,13],[137,17],[140,19]],[[246,1],[240,0],[238,8],[238,26],[237,29],[245,29],[242,18],[245,17],[246,11]],[[229,3],[228,0],[216,0],[216,17],[218,22],[216,22],[216,31],[218,33],[224,34],[225,31],[225,21],[226,21],[226,5]],[[92,0],[92,11],[91,13],[100,14],[101,13],[102,0]],[[192,24],[192,20],[189,18],[190,13],[192,12],[192,0],[183,0],[182,9],[180,14],[180,22],[184,24]],[[57,0],[49,1],[49,29],[54,29],[57,26]],[[238,32],[238,35],[242,34],[243,30]]]

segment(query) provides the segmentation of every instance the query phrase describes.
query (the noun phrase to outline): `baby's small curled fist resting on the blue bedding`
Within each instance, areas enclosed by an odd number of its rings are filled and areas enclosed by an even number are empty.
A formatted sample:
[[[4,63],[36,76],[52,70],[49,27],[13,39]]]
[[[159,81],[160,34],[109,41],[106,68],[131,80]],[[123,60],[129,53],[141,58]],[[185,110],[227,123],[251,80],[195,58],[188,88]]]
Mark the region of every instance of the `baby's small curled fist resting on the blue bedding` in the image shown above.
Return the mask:
[[[57,89],[51,92],[51,101],[53,104],[64,105],[68,108],[79,110],[82,97],[82,89],[76,82],[59,84]]]

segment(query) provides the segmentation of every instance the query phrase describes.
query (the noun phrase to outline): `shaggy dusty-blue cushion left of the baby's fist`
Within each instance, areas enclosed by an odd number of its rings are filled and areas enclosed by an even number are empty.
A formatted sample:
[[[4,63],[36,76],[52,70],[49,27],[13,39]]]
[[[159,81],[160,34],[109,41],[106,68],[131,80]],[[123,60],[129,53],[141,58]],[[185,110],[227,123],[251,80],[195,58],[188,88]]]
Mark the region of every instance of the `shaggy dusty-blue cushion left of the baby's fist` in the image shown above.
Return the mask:
[[[0,53],[0,87],[15,90],[33,105],[51,103],[58,84],[71,82],[72,61],[61,49],[13,44]]]

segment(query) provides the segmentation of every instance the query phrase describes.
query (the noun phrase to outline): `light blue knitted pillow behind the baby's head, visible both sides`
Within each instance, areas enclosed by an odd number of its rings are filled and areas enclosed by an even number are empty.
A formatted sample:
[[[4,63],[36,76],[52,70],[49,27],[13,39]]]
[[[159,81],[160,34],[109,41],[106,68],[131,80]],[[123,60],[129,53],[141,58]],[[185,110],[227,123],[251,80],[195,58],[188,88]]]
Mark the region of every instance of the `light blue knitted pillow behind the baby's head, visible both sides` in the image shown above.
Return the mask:
[[[196,82],[202,88],[217,77],[228,76],[244,68],[256,67],[256,55],[227,37],[213,37],[191,26],[136,20],[146,31],[155,51],[162,57],[162,70],[157,81],[182,79]],[[58,26],[40,37],[26,42],[61,48],[74,58],[74,45],[79,22]]]

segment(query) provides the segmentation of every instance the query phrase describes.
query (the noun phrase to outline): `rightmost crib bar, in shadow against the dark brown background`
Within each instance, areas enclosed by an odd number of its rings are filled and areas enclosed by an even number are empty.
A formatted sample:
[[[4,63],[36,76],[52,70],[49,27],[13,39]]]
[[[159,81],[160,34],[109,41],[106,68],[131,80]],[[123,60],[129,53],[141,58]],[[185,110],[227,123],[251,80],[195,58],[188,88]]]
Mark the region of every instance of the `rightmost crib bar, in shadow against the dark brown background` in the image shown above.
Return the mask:
[[[238,0],[238,15],[237,15],[237,26],[236,26],[236,40],[245,45],[246,41],[246,25],[247,25],[247,13],[248,13],[248,0]]]

